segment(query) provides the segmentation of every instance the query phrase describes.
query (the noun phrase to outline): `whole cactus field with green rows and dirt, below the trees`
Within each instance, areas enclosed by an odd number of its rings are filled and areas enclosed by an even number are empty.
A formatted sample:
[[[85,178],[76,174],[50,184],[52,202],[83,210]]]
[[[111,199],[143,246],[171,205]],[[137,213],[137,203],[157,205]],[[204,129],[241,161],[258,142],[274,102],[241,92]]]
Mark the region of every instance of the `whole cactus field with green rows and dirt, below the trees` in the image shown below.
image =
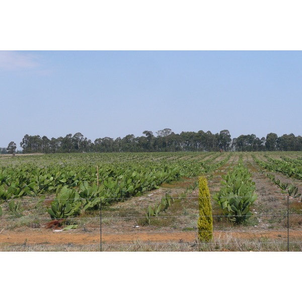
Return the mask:
[[[201,175],[208,243],[197,236]],[[301,193],[302,152],[6,156],[0,250],[300,251]]]

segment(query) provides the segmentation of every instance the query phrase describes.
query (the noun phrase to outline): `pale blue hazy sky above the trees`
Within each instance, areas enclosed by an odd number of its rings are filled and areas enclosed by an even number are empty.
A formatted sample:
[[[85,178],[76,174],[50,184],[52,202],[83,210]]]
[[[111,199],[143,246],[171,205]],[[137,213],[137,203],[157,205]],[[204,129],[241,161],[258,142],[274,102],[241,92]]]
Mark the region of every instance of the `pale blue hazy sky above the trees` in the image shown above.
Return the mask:
[[[0,51],[0,146],[228,129],[302,135],[301,51]]]

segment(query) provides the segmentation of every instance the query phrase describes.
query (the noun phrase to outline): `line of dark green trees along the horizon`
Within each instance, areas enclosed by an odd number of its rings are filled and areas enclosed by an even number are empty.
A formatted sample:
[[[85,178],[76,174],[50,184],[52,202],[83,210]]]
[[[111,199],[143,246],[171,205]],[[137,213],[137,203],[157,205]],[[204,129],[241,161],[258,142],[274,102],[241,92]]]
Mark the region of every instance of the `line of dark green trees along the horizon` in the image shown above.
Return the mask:
[[[166,128],[156,132],[145,130],[142,136],[135,137],[128,134],[125,137],[97,138],[94,142],[80,132],[67,134],[65,137],[28,135],[26,134],[20,146],[23,153],[83,153],[83,152],[198,152],[198,151],[300,151],[302,137],[294,134],[284,134],[278,137],[275,133],[268,133],[259,138],[255,134],[240,135],[231,138],[229,130],[222,130],[213,134],[204,132],[174,133]],[[16,152],[17,145],[10,142],[7,152]]]

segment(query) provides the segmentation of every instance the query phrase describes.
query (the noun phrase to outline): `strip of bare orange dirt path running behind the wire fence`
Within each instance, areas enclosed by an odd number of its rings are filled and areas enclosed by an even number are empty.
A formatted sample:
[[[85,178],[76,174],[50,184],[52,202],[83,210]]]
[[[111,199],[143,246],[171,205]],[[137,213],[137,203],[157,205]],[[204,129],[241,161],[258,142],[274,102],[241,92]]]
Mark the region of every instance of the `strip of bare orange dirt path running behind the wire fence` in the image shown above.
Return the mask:
[[[287,230],[268,231],[268,230],[254,230],[253,232],[242,231],[214,231],[214,238],[225,239],[232,237],[233,239],[261,239],[263,237],[269,239],[276,239],[278,241],[287,240]],[[295,240],[302,240],[302,230],[289,231],[289,238]],[[132,234],[102,234],[102,243],[133,243],[135,241],[141,242],[194,242],[197,239],[197,232],[132,232]],[[18,234],[17,232],[6,232],[0,234],[0,244],[2,245],[95,245],[101,243],[100,234],[76,234],[46,231],[45,234],[36,234],[35,232],[28,232],[25,234]]]

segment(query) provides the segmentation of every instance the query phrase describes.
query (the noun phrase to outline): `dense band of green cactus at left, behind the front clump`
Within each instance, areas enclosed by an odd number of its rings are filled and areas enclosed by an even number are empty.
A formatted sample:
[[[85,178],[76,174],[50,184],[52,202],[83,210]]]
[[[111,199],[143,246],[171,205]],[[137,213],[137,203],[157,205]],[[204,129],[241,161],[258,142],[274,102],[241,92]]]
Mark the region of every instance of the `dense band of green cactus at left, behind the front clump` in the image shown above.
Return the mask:
[[[39,162],[39,159],[44,161],[43,157],[32,158],[32,161],[27,159],[25,164],[18,159],[18,165],[12,162],[11,166],[7,164],[1,167],[0,199],[57,195],[66,187],[82,192],[85,198],[100,197],[104,204],[109,204],[114,199],[128,198],[158,188],[164,182],[210,172],[228,160],[224,158],[216,162],[218,156],[210,155],[208,160],[200,161],[196,155],[193,159],[176,157],[174,160],[166,157],[154,160],[154,157],[150,159],[150,156],[146,158],[143,155],[145,160],[138,158],[110,164],[96,161],[90,155],[80,157],[85,159],[85,163],[72,163],[64,157],[54,157],[52,165],[43,168]]]

